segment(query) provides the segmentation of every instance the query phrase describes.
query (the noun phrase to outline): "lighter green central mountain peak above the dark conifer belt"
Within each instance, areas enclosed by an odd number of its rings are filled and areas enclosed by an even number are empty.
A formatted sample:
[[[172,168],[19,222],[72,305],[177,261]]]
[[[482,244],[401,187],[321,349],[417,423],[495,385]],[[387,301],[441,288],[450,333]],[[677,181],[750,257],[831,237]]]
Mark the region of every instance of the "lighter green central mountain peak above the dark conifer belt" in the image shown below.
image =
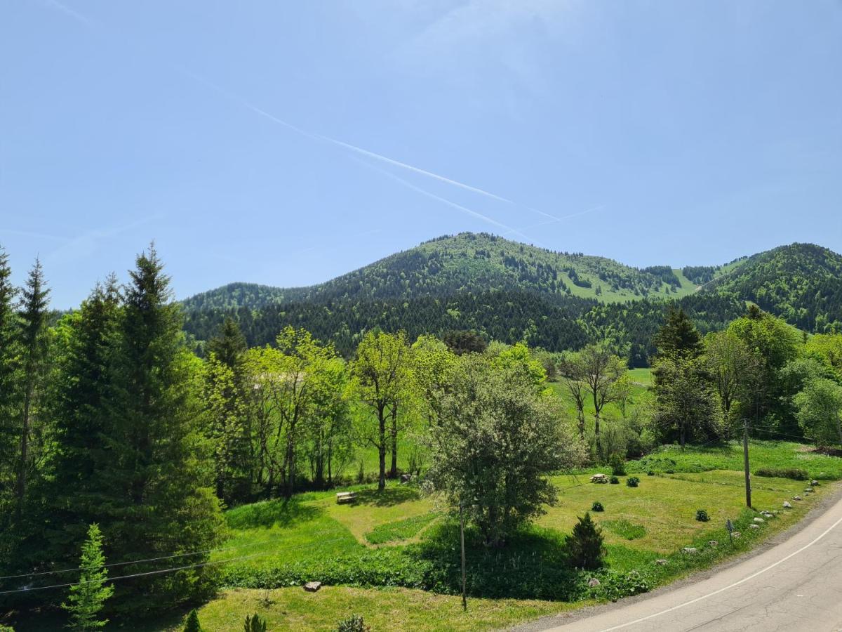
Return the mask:
[[[624,302],[695,290],[669,266],[644,270],[604,257],[559,253],[488,233],[432,239],[312,287],[280,289],[232,283],[184,301],[195,308],[259,308],[301,301],[380,301],[448,297],[466,290],[539,292],[548,297]]]

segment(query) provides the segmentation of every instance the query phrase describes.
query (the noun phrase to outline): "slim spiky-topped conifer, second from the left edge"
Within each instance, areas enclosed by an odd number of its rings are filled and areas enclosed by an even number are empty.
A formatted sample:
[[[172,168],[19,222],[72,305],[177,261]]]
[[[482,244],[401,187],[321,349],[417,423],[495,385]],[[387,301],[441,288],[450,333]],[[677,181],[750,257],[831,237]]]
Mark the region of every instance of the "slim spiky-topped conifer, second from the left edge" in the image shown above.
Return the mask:
[[[21,292],[20,339],[22,351],[22,386],[20,411],[20,452],[18,454],[18,478],[15,485],[18,515],[26,497],[26,485],[31,474],[34,458],[29,442],[34,431],[35,413],[40,396],[41,381],[47,356],[47,306],[50,290],[45,287],[44,269],[40,260],[29,270],[29,277]]]

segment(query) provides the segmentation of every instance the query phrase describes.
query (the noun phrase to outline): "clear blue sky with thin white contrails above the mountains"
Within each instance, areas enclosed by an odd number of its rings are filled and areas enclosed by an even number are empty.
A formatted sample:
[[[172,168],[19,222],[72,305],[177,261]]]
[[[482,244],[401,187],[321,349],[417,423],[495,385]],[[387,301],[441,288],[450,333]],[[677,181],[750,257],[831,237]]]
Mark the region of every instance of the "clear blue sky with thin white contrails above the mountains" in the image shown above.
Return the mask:
[[[8,0],[0,55],[0,244],[56,307],[152,238],[179,297],[466,230],[842,251],[834,0]]]

